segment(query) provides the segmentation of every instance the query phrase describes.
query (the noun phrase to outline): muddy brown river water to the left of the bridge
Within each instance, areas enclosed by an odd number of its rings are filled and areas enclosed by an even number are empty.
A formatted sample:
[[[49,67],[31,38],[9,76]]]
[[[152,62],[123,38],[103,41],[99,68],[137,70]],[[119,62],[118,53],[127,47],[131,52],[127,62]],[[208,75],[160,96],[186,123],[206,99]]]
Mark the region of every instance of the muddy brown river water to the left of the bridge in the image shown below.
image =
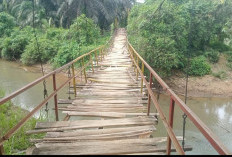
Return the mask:
[[[25,68],[27,70],[25,70]],[[29,70],[28,70],[29,69]],[[30,72],[33,71],[33,72]],[[40,72],[35,72],[32,67],[21,67],[18,63],[15,62],[7,62],[0,60],[0,87],[2,87],[6,95],[15,92],[16,90],[22,88],[23,86],[31,83],[32,81],[40,78],[42,74]],[[59,78],[60,79],[60,78]],[[48,93],[51,93],[53,90],[52,87],[52,80],[51,78],[46,80],[47,81],[47,90]],[[59,80],[58,80],[59,81]],[[58,82],[59,83],[59,82]],[[58,95],[59,98],[67,98],[66,95],[67,89],[64,88]],[[32,111],[41,100],[43,100],[43,84],[40,83],[35,87],[25,91],[24,93],[20,94],[19,96],[12,99],[12,102],[20,106],[23,109],[28,111]],[[54,119],[53,108],[54,108],[54,101],[51,99],[49,101],[49,112],[51,112],[51,119]],[[42,108],[44,111],[45,107]],[[35,114],[35,117],[38,118],[40,112]]]

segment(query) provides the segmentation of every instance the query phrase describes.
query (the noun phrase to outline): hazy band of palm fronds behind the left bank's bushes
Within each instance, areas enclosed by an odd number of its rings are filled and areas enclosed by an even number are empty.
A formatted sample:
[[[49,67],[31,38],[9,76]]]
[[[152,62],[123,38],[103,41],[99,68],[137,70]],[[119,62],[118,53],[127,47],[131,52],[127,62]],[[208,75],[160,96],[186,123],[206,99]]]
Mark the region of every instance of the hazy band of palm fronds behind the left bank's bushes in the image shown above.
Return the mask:
[[[36,23],[68,27],[81,14],[103,29],[115,18],[124,22],[135,0],[35,0]],[[21,26],[32,25],[32,0],[0,0],[0,11],[13,15]]]

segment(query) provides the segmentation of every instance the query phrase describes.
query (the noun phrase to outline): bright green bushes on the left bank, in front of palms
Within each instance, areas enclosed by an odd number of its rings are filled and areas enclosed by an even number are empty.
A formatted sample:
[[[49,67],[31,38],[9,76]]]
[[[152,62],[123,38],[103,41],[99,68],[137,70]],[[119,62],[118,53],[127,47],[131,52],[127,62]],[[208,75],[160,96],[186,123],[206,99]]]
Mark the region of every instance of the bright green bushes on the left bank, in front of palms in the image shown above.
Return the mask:
[[[5,21],[11,24],[15,22],[7,13],[3,15],[3,19],[9,18]],[[100,35],[100,28],[85,15],[75,19],[70,29],[35,29],[37,42],[31,26],[12,26],[8,30],[9,33],[0,39],[0,56],[3,59],[21,60],[26,65],[50,62],[54,67],[62,66],[104,44],[109,37],[108,33]]]

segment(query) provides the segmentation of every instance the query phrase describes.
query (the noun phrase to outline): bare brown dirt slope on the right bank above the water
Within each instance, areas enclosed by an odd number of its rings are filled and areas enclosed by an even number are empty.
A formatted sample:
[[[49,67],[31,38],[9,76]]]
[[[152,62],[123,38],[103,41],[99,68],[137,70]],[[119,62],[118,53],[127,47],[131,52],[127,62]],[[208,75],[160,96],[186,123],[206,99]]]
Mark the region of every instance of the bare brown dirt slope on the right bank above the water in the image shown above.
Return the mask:
[[[212,72],[224,72],[222,79],[215,76],[206,75],[203,77],[190,77],[188,83],[189,97],[232,97],[232,71],[226,66],[226,58],[220,56],[217,64],[211,65]],[[168,80],[167,84],[176,94],[184,95],[186,78],[184,74],[177,73]]]

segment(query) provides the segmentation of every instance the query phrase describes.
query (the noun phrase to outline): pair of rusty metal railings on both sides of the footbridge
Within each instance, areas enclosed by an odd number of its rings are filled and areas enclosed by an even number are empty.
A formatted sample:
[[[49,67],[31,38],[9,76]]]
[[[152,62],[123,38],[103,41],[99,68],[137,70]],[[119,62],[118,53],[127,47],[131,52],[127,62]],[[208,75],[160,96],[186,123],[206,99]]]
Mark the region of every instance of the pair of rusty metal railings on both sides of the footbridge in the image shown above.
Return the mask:
[[[101,46],[97,49],[94,49],[78,58],[76,58],[75,60],[73,60],[72,62],[62,66],[61,68],[33,81],[32,83],[26,85],[25,87],[17,90],[16,92],[10,94],[9,96],[3,98],[0,100],[0,106],[3,105],[4,103],[10,101],[11,99],[15,98],[16,96],[22,94],[23,92],[27,91],[28,89],[36,86],[37,84],[41,83],[42,81],[44,81],[45,79],[52,77],[53,80],[53,93],[50,94],[46,99],[44,99],[39,105],[37,105],[27,116],[25,116],[22,120],[20,120],[20,122],[14,126],[13,128],[11,128],[3,137],[0,138],[0,155],[4,154],[4,148],[3,148],[3,144],[5,141],[7,141],[9,138],[12,137],[12,135],[14,133],[17,132],[17,130],[19,130],[36,112],[38,112],[50,99],[54,98],[54,106],[55,106],[55,116],[56,116],[56,121],[59,120],[59,115],[58,115],[58,101],[57,101],[57,93],[64,88],[64,86],[66,84],[68,84],[70,81],[73,82],[73,88],[74,88],[74,94],[76,96],[76,78],[78,77],[78,75],[81,72],[84,72],[84,76],[85,76],[85,81],[87,82],[87,75],[86,75],[86,68],[88,66],[92,67],[92,72],[94,73],[94,68],[93,68],[93,58],[95,59],[96,64],[98,65],[98,61],[99,59],[102,60],[102,58],[104,58],[104,55],[106,53],[105,49],[107,48],[107,46],[112,42],[112,38],[111,40],[109,40],[107,42],[107,44],[105,46]],[[176,149],[176,151],[181,154],[184,155],[185,152],[182,149],[182,147],[180,146],[176,135],[173,131],[173,116],[174,116],[174,107],[175,104],[177,104],[180,109],[189,117],[189,119],[194,123],[194,125],[200,130],[200,132],[206,137],[206,139],[211,143],[211,145],[214,147],[214,149],[219,153],[219,154],[226,154],[229,155],[231,154],[227,148],[219,141],[219,139],[214,135],[214,133],[198,118],[197,115],[195,115],[191,109],[167,86],[167,84],[158,76],[158,74],[146,63],[146,61],[144,61],[144,59],[136,52],[136,50],[132,47],[132,45],[128,42],[127,43],[128,46],[128,50],[130,52],[130,56],[131,59],[133,61],[133,65],[136,68],[136,77],[138,80],[138,76],[140,74],[141,76],[141,92],[143,92],[143,84],[145,84],[147,91],[148,91],[148,111],[147,111],[147,115],[150,114],[150,108],[151,108],[151,101],[154,103],[155,108],[157,109],[162,122],[167,130],[167,155],[170,155],[171,153],[171,143],[173,142],[173,145]],[[94,57],[93,57],[94,56]],[[84,59],[86,59],[88,57],[89,61],[85,64],[84,63]],[[82,64],[81,69],[78,71],[77,74],[75,74],[75,63],[77,63],[78,61],[80,61],[80,63]],[[139,67],[139,64],[141,62],[141,68]],[[59,73],[60,71],[71,67],[72,69],[72,76],[70,78],[68,78],[67,81],[65,81],[64,83],[62,83],[62,85],[60,85],[59,87],[57,87],[57,78],[56,75],[57,73]],[[150,77],[149,77],[149,82],[146,80],[146,77],[144,76],[144,69],[145,67],[149,70],[150,72]],[[166,119],[157,99],[154,96],[154,93],[152,91],[152,82],[153,82],[153,78],[155,78],[157,80],[157,82],[162,86],[162,88],[168,93],[168,95],[170,96],[170,109],[169,109],[169,120]],[[67,118],[67,117],[66,117]],[[65,119],[66,119],[65,118]]]

